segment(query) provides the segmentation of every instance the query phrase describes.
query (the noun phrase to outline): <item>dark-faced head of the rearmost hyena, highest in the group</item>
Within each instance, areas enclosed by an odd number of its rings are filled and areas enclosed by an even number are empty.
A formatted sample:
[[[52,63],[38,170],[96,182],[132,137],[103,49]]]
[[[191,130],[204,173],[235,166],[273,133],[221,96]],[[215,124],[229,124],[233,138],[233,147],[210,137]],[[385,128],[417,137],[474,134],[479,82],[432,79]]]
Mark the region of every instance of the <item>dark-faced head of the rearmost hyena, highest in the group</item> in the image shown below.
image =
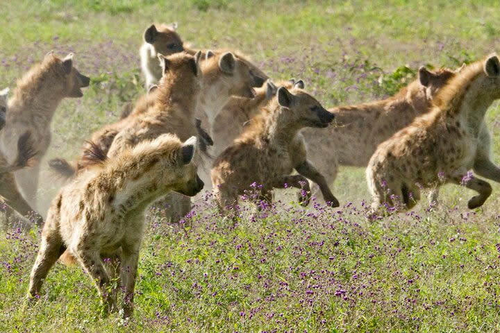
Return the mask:
[[[151,24],[144,31],[144,42],[151,44],[156,53],[163,56],[184,51],[183,41],[176,33],[177,23],[172,24]]]

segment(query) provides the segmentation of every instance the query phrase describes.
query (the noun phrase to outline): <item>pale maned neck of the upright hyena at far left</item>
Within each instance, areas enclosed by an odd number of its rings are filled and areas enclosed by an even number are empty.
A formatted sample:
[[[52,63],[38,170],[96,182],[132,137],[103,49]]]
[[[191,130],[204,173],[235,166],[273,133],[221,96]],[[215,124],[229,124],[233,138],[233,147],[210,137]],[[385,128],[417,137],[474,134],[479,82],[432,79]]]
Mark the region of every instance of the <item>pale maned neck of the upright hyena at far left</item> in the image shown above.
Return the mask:
[[[65,98],[62,88],[65,73],[56,61],[53,58],[35,65],[19,79],[12,99],[9,99],[8,119],[31,119],[38,124],[51,121]]]

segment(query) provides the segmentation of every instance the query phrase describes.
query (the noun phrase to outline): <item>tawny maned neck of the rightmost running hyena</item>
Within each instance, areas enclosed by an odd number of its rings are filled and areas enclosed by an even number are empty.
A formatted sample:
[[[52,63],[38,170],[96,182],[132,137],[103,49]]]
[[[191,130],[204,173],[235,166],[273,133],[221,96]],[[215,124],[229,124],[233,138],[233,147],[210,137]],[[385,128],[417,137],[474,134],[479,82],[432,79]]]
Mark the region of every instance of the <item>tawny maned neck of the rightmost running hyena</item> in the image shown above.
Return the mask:
[[[433,100],[439,110],[437,119],[456,123],[458,119],[467,121],[467,126],[478,130],[483,123],[487,108],[495,98],[483,93],[482,85],[487,80],[483,61],[474,62],[462,69],[458,75],[442,87]]]

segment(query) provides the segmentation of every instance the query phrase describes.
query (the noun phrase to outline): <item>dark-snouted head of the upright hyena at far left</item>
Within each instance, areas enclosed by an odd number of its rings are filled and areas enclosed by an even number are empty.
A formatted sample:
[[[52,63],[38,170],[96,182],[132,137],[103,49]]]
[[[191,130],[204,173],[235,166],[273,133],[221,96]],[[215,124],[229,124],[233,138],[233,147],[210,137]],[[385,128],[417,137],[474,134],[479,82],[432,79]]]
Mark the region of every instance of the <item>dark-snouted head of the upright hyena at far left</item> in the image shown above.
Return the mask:
[[[42,65],[47,65],[49,71],[58,73],[58,78],[51,80],[47,84],[58,87],[64,97],[81,97],[83,96],[81,88],[88,87],[90,84],[90,78],[80,74],[78,69],[73,66],[73,53],[69,53],[65,58],[60,59],[50,52],[45,56]]]

